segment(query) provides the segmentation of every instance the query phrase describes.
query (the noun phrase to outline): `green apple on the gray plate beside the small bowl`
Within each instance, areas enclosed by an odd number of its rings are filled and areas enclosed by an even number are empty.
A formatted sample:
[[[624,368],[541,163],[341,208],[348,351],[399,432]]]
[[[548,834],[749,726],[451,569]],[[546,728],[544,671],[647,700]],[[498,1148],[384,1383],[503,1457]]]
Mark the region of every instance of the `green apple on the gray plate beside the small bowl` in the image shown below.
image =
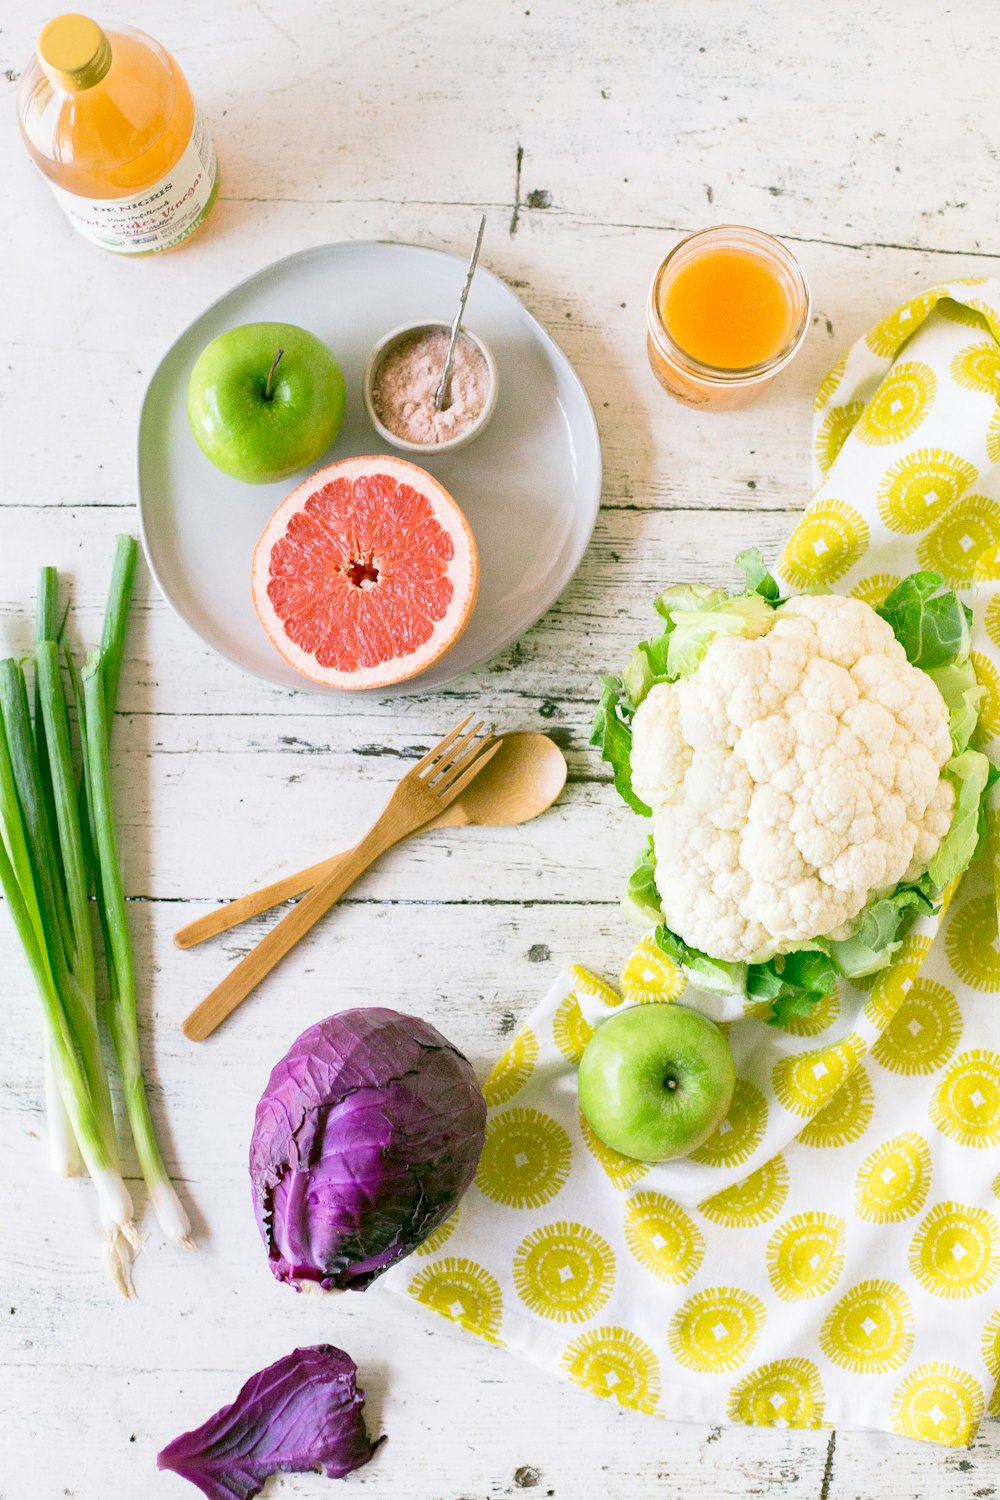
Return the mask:
[[[343,374],[294,322],[244,322],[195,362],[187,417],[202,453],[232,478],[267,484],[313,464],[343,422]]]

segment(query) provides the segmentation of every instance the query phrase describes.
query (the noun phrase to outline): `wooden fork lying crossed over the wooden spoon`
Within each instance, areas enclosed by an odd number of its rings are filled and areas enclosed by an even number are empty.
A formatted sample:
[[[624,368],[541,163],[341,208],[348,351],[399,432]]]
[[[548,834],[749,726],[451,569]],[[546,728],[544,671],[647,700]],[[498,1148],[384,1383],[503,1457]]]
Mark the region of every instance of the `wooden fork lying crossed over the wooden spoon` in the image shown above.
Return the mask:
[[[184,1036],[210,1036],[379,855],[442,813],[480,774],[502,741],[483,723],[469,729],[471,718],[468,714],[406,772],[364,838],[193,1008],[183,1023]]]

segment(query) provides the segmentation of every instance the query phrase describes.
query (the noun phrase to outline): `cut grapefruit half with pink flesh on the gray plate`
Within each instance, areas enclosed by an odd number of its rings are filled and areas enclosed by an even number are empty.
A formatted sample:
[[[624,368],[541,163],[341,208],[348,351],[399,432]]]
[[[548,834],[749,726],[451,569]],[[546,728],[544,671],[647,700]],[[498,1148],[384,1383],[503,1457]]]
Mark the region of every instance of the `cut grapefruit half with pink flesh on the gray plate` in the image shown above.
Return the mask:
[[[475,538],[451,495],[396,458],[310,474],[253,550],[261,624],[327,687],[388,687],[426,670],[468,626],[478,582]]]

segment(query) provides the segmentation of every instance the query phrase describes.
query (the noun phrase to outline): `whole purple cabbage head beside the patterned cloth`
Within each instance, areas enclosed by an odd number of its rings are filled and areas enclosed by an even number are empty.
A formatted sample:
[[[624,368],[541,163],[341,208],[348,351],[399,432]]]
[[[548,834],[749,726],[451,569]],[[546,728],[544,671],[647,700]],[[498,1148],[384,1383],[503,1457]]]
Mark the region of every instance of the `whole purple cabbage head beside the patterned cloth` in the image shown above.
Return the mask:
[[[427,1022],[372,1006],[310,1026],[271,1072],[250,1142],[277,1280],[364,1290],[451,1214],[484,1124],[472,1066]]]

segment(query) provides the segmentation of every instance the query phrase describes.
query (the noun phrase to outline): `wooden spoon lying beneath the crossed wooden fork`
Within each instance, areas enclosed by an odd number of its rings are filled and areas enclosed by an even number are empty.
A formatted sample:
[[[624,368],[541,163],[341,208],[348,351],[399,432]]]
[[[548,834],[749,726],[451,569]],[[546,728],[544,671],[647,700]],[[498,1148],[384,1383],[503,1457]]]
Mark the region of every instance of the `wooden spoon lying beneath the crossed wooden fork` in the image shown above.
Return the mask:
[[[477,776],[444,813],[433,822],[424,824],[418,832],[429,832],[432,828],[466,828],[471,824],[487,828],[526,824],[552,807],[565,786],[565,778],[567,764],[562,750],[547,735],[504,735],[502,746],[481,776]],[[285,874],[280,880],[261,886],[259,891],[250,891],[249,896],[241,896],[226,906],[217,906],[178,928],[174,942],[178,948],[195,948],[208,938],[229,932],[250,916],[259,916],[261,912],[310,891],[348,858],[349,850],[334,854],[319,864],[310,864],[307,870]]]

